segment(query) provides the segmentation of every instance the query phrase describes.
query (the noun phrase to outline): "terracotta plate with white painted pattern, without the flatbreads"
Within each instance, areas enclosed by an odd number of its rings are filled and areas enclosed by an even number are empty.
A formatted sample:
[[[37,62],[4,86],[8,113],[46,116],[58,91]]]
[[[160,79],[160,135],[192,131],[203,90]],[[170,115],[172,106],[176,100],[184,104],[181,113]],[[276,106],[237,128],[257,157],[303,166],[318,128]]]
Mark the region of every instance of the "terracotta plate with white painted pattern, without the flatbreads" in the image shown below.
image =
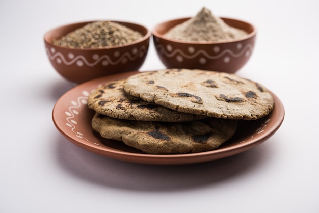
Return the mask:
[[[97,154],[141,164],[177,165],[212,161],[251,149],[269,139],[284,119],[283,104],[273,94],[274,109],[267,117],[257,121],[240,121],[233,138],[216,150],[191,154],[145,154],[121,141],[101,138],[91,127],[94,111],[87,107],[88,95],[97,86],[135,73],[138,71],[97,78],[66,92],[52,112],[57,129],[72,143]]]

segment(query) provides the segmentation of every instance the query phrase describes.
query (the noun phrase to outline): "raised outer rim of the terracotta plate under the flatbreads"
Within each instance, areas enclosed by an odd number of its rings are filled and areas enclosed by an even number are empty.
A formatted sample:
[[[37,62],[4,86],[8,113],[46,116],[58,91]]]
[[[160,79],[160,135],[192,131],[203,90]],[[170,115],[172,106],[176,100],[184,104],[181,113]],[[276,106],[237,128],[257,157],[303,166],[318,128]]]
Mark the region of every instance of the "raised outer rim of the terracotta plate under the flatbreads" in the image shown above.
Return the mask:
[[[277,95],[275,95],[273,92],[272,95],[274,97],[274,109],[271,113],[275,111],[279,116],[275,122],[275,125],[271,126],[271,128],[267,131],[267,134],[263,134],[262,137],[254,137],[248,142],[244,141],[240,144],[235,144],[233,146],[229,147],[223,147],[221,149],[215,149],[211,151],[206,152],[198,152],[198,153],[187,153],[187,154],[144,154],[144,153],[133,153],[133,152],[126,152],[123,150],[115,150],[110,148],[101,149],[101,147],[95,146],[92,144],[84,144],[83,142],[76,140],[72,138],[69,134],[67,134],[65,131],[63,131],[63,128],[60,126],[60,124],[57,122],[59,117],[59,114],[57,114],[57,108],[59,104],[66,98],[70,93],[73,91],[79,90],[79,88],[86,88],[88,85],[96,84],[98,85],[99,82],[110,82],[115,79],[120,79],[124,77],[128,77],[132,74],[139,73],[141,71],[129,71],[125,73],[119,73],[114,75],[108,75],[103,76],[99,78],[95,78],[91,81],[79,84],[67,92],[65,92],[55,103],[54,108],[52,109],[52,121],[54,122],[55,127],[60,132],[61,135],[63,135],[67,140],[72,142],[73,144],[84,148],[88,151],[94,152],[96,154],[100,154],[106,157],[110,157],[113,159],[117,159],[120,161],[125,162],[132,162],[132,163],[139,163],[139,164],[153,164],[153,165],[181,165],[181,164],[194,164],[194,163],[202,163],[202,162],[208,162],[208,161],[214,161],[216,159],[221,159],[224,157],[229,157],[244,151],[247,151],[264,141],[267,141],[271,136],[275,134],[275,132],[280,128],[284,116],[285,116],[285,110],[283,103],[279,99]],[[144,71],[143,71],[144,72]],[[96,82],[96,83],[95,83]],[[107,150],[105,150],[107,149]]]

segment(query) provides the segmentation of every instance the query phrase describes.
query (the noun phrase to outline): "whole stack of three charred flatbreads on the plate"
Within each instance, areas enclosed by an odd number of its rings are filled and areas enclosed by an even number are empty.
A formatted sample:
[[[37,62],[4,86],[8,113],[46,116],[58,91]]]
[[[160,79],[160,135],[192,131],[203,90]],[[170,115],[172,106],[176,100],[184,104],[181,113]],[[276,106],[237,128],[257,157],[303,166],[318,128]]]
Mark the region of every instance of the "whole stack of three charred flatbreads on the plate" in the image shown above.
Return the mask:
[[[273,105],[261,84],[198,69],[140,72],[101,85],[88,98],[95,131],[149,154],[217,149],[238,120],[260,119]]]

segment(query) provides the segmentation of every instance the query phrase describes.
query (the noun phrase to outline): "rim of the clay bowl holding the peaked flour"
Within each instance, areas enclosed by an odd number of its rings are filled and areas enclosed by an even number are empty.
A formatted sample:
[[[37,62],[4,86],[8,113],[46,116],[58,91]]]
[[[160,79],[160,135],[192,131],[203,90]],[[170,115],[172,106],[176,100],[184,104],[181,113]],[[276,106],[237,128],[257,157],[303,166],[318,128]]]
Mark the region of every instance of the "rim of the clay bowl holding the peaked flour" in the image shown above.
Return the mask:
[[[177,20],[186,21],[190,18],[192,18],[192,17],[175,18],[175,19],[170,19],[170,20],[166,20],[166,21],[157,23],[152,29],[152,35],[155,37],[161,38],[163,40],[176,42],[176,43],[184,43],[184,44],[226,44],[226,43],[234,43],[234,42],[243,41],[243,40],[252,38],[252,37],[256,36],[256,33],[257,33],[256,27],[252,23],[249,23],[249,22],[241,20],[241,19],[229,18],[229,17],[220,17],[220,18],[223,20],[226,19],[226,20],[234,20],[234,21],[243,22],[245,24],[250,25],[252,27],[253,31],[251,33],[247,34],[246,36],[241,37],[241,38],[227,40],[227,41],[184,41],[184,40],[178,40],[178,39],[171,39],[171,38],[163,36],[163,34],[160,34],[157,32],[157,28],[159,25],[162,25],[162,24],[165,24],[165,23],[168,23],[171,21],[177,21]]]

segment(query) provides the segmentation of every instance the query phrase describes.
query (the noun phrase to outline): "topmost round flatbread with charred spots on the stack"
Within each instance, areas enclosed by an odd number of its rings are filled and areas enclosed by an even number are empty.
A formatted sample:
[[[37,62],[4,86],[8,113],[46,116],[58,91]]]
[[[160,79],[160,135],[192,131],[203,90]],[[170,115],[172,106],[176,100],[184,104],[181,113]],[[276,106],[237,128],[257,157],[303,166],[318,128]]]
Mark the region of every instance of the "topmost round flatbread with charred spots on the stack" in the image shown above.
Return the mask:
[[[183,113],[256,120],[273,109],[271,92],[256,82],[224,72],[166,69],[130,76],[124,90]]]

